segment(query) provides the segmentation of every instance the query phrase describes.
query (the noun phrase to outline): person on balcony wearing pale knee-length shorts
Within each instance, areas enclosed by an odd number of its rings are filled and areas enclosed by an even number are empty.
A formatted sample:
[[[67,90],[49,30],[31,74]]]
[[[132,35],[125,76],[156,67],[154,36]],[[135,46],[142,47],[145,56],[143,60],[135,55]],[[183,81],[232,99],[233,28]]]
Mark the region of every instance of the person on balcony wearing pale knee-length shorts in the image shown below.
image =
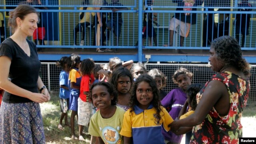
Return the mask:
[[[189,2],[188,2],[189,1]],[[178,3],[178,6],[198,6],[202,5],[204,0],[172,0],[174,3]],[[189,4],[188,4],[189,3]],[[187,10],[186,8],[176,8],[176,10]],[[192,10],[196,10],[196,8],[192,8]],[[175,32],[180,33],[180,44],[179,46],[183,46],[184,38],[188,37],[189,31],[190,31],[190,25],[196,24],[196,13],[175,13],[172,19],[169,23],[169,30],[170,30],[170,40],[169,40],[169,46],[173,46],[173,35],[174,30]],[[178,26],[180,26],[180,29],[178,30]],[[165,45],[166,46],[166,45]],[[186,54],[182,50],[178,50],[178,53],[180,54]]]

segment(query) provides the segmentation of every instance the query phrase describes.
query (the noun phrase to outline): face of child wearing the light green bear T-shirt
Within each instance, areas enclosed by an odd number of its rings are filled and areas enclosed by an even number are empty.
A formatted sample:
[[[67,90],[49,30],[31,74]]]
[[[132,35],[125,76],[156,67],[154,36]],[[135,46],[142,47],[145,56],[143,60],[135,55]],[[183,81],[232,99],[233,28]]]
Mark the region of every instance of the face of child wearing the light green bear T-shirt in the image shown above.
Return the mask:
[[[98,109],[106,109],[111,106],[111,100],[114,96],[110,96],[106,86],[94,86],[92,88],[92,102]]]

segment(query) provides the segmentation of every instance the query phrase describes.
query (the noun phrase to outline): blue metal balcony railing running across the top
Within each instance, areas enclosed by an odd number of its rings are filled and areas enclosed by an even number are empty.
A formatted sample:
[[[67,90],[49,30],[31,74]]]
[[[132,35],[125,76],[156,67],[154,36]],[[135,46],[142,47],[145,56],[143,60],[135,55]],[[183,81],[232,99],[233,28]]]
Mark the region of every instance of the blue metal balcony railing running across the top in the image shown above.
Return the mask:
[[[0,34],[4,40],[11,34],[11,30],[7,27],[8,12],[15,8],[21,1],[24,0],[4,0],[0,2],[0,12],[4,13],[4,31]],[[32,6],[38,8],[41,12],[40,20],[46,29],[44,37],[45,44],[37,45],[39,48],[152,48],[152,49],[209,49],[210,42],[219,36],[230,35],[238,39],[243,45],[242,50],[256,50],[256,3],[254,0],[248,0],[250,6],[241,4],[241,0],[195,0],[198,5],[186,6],[182,0],[154,0],[154,4],[148,4],[144,0],[119,0],[122,6],[111,5],[111,0],[106,0],[108,4],[102,6],[89,4],[82,5],[82,0],[41,0],[41,4],[34,0]],[[112,10],[84,10],[80,7],[105,7],[105,8],[124,8],[128,10],[120,10],[112,12]],[[44,9],[45,8],[45,9]],[[144,8],[150,8],[145,10]],[[176,9],[177,8],[177,9]],[[178,9],[180,8],[180,9]],[[193,9],[192,9],[193,8]],[[154,9],[154,10],[153,10]],[[80,13],[95,13],[100,12],[105,26],[102,26],[100,35],[100,46],[96,46],[96,19],[90,16],[91,26],[84,28],[84,32],[78,32],[78,38],[74,41],[74,28],[78,25],[79,30],[82,24],[79,23]],[[145,15],[143,15],[145,13]],[[170,20],[172,17],[189,14],[185,18],[186,23],[191,23],[188,37],[184,38],[184,44],[180,39],[180,27],[177,33],[174,32],[173,45],[170,44]],[[122,18],[120,27],[120,36],[117,37],[112,30],[106,28],[106,24],[112,21],[110,18],[116,14],[119,19]],[[148,17],[154,15],[152,27],[146,29],[147,33],[156,32],[156,44],[153,37],[146,36],[144,45],[142,42],[143,18],[146,17],[146,26],[149,26]],[[242,14],[242,15],[241,15]],[[239,17],[239,18],[238,18]],[[244,19],[244,18],[245,19]],[[195,21],[195,23],[192,22]],[[158,23],[158,25],[153,24]],[[245,24],[245,26],[243,26]],[[176,24],[178,25],[178,24]],[[175,25],[174,25],[175,26]],[[151,28],[151,30],[149,29]],[[154,29],[154,30],[153,30]],[[245,31],[245,32],[244,32]],[[243,33],[244,32],[244,33]],[[241,35],[240,35],[241,34]],[[34,41],[38,41],[37,38]],[[118,39],[118,41],[117,41]],[[81,42],[84,40],[84,42]],[[136,42],[138,43],[136,44]],[[77,44],[76,44],[77,43]],[[76,45],[75,45],[76,44]],[[80,45],[81,44],[81,45]],[[166,46],[167,45],[167,46]],[[140,52],[139,52],[140,53]],[[141,60],[140,60],[141,61]]]

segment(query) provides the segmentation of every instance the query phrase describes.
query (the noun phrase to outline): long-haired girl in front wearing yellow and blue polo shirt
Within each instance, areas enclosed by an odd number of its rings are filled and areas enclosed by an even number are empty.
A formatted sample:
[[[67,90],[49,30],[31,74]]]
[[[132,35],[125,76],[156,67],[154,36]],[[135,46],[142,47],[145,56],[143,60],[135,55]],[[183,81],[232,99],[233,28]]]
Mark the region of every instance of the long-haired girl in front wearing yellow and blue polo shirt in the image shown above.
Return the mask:
[[[124,143],[130,144],[164,144],[162,128],[170,130],[168,124],[173,122],[166,109],[161,106],[156,82],[148,74],[141,75],[134,83],[130,109],[124,114],[120,134]],[[132,137],[132,138],[131,138]]]

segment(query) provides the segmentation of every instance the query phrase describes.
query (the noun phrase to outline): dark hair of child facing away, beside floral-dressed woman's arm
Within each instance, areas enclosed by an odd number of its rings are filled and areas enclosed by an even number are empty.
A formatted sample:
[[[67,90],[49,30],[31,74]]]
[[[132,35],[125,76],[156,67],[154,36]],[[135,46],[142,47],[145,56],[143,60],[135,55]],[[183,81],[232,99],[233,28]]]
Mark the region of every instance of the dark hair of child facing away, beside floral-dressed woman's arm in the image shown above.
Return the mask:
[[[197,102],[196,102],[196,94],[203,88],[203,84],[196,83],[190,84],[186,90],[186,94],[190,99],[190,107],[192,110],[196,110]]]

